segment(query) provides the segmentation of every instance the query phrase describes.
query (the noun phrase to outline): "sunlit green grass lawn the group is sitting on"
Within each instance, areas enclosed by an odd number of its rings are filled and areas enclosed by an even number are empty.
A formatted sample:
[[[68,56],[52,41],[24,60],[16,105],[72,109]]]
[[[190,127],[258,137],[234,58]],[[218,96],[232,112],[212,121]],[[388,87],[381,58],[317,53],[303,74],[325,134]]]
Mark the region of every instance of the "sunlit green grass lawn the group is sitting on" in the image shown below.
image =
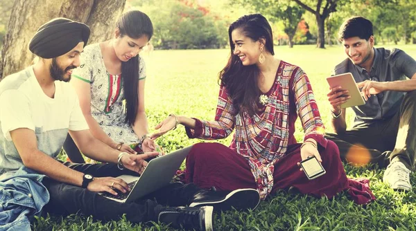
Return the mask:
[[[416,46],[397,46],[416,58]],[[343,48],[331,46],[276,47],[275,54],[296,64],[309,75],[315,98],[327,131],[331,131],[328,85],[325,77],[333,66],[345,59]],[[229,50],[155,50],[144,54],[147,62],[146,111],[150,128],[169,113],[212,120],[218,95],[218,72],[223,68]],[[352,112],[347,111],[352,121]],[[302,140],[303,131],[297,123],[295,136]],[[230,137],[218,140],[229,144]],[[157,140],[166,151],[186,147],[200,140],[189,140],[183,127]],[[349,177],[370,178],[377,198],[361,207],[349,201],[343,192],[334,200],[288,194],[279,191],[262,201],[254,212],[229,211],[216,214],[216,230],[415,230],[415,190],[407,194],[394,192],[382,183],[383,169],[345,166]],[[416,174],[410,181],[415,185]],[[38,218],[33,230],[166,230],[166,225],[147,223],[132,225],[125,219],[100,223],[91,217]]]

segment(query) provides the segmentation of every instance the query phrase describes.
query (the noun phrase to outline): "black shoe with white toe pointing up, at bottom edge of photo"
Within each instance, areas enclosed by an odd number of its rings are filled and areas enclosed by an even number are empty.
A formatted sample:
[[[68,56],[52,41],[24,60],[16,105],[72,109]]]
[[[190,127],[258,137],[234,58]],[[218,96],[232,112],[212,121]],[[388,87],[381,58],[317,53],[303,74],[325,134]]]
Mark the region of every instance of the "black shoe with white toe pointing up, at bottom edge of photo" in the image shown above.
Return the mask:
[[[165,207],[157,218],[161,223],[173,228],[212,231],[212,206],[204,207]]]

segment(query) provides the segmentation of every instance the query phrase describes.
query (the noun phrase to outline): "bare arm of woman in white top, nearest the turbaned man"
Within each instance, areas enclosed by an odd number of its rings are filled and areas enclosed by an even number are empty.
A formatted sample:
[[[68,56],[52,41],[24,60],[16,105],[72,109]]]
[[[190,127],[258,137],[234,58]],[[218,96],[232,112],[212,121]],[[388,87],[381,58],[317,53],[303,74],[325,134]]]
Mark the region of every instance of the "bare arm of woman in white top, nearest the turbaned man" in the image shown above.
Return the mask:
[[[91,115],[90,84],[83,80],[79,80],[77,77],[72,78],[71,84],[73,86],[73,89],[75,89],[76,94],[78,95],[81,110],[83,111],[85,120],[87,120],[87,124],[89,129],[91,130],[92,135],[98,140],[101,140],[101,142],[115,149],[118,143],[114,142],[112,138],[107,136],[103,129],[101,129],[98,122],[96,122],[96,120]]]

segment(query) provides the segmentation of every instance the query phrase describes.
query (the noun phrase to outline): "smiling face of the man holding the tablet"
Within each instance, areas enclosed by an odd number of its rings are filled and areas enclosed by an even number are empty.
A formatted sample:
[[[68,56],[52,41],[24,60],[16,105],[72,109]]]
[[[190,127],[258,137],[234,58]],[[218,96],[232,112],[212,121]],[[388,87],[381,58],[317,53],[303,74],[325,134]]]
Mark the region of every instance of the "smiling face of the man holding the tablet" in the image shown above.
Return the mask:
[[[350,37],[343,39],[345,53],[353,64],[364,67],[372,64],[374,57],[374,37],[371,36],[368,41],[360,37]]]

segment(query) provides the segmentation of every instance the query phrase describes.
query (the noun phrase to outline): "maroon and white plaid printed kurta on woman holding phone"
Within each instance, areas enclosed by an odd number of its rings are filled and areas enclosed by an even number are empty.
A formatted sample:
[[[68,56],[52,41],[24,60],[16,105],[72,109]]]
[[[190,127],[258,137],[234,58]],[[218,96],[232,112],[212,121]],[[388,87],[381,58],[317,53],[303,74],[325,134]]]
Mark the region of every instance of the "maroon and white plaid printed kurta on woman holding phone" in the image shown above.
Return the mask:
[[[248,160],[262,198],[272,190],[275,161],[285,155],[288,145],[296,143],[293,133],[299,116],[305,131],[304,140],[315,139],[326,147],[324,125],[308,77],[298,66],[281,61],[268,102],[250,117],[235,113],[227,89],[220,87],[215,121],[197,120],[196,128],[187,128],[190,138],[226,138],[234,130],[229,145]],[[276,169],[276,171],[279,171]]]

